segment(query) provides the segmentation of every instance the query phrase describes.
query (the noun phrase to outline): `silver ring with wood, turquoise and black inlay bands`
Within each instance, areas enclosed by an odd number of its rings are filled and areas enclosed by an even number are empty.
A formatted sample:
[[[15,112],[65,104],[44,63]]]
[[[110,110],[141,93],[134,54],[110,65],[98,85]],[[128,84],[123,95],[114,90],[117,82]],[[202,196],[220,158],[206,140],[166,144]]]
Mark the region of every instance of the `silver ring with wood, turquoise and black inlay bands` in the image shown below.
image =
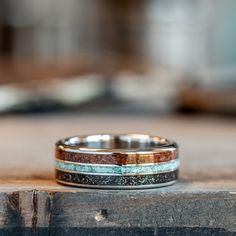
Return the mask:
[[[56,181],[89,188],[131,189],[175,183],[178,145],[141,134],[75,136],[56,143]]]

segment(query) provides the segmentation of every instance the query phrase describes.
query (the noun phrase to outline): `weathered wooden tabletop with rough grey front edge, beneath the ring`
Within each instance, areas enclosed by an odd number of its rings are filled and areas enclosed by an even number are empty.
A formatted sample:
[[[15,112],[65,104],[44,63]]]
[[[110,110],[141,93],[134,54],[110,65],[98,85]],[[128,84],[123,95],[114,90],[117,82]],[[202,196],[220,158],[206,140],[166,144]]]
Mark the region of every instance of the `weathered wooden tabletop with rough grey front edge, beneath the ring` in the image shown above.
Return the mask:
[[[236,234],[236,120],[232,118],[5,116],[0,130],[0,235]],[[176,140],[180,180],[171,187],[143,191],[55,183],[55,141],[101,132],[148,133]]]

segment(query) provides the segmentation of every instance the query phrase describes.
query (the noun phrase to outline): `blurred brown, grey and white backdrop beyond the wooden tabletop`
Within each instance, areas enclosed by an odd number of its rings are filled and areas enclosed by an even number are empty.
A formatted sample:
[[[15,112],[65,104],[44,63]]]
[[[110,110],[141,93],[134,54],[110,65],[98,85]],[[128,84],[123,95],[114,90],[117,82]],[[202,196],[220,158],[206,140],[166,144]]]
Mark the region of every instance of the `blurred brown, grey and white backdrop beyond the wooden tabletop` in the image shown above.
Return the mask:
[[[236,114],[234,0],[0,0],[0,113]]]

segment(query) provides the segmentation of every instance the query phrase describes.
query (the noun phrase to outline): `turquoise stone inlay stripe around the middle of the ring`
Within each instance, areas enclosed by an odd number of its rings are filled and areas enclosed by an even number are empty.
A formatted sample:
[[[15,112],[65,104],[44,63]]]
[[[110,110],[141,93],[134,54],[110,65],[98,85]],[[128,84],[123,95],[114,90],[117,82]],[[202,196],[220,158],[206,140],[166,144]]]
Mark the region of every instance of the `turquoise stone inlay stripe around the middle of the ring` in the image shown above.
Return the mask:
[[[159,173],[168,172],[178,169],[179,160],[162,164],[153,165],[133,165],[133,166],[96,166],[96,165],[79,165],[73,163],[65,163],[56,161],[56,167],[59,169],[84,172],[84,173],[100,173],[100,174],[142,174],[142,173]]]

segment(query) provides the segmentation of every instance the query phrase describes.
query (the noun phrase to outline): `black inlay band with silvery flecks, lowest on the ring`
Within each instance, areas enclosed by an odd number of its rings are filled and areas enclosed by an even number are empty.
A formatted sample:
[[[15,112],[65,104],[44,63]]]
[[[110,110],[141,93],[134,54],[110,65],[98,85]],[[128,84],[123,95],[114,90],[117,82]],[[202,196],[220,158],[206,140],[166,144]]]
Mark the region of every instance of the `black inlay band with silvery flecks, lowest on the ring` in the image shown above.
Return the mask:
[[[174,181],[178,178],[178,170],[168,173],[151,175],[132,175],[132,176],[114,176],[114,175],[88,175],[79,173],[69,173],[56,170],[56,178],[59,181],[98,186],[139,186],[164,184]]]

